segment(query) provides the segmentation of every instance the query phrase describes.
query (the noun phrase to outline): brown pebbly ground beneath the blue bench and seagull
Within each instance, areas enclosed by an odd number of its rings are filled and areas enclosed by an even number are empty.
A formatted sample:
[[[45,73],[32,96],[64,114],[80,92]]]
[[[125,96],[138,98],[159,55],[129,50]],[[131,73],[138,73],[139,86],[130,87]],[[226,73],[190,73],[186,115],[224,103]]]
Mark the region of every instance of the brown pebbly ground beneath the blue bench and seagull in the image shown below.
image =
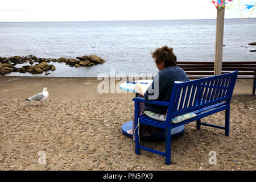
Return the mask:
[[[38,78],[32,86],[26,80],[31,81],[32,77],[13,79],[0,77],[0,170],[256,169],[256,104],[255,98],[251,98],[255,96],[246,96],[247,100],[239,96],[233,98],[229,137],[225,137],[224,130],[207,126],[196,130],[196,122],[185,125],[184,134],[172,138],[172,163],[167,166],[162,156],[151,152],[141,151],[141,155],[136,155],[133,139],[121,131],[123,123],[133,117],[131,98],[134,94],[100,98],[96,93],[90,94],[94,89],[90,86],[84,97],[81,94],[67,97],[64,93],[70,90],[60,80],[59,89],[61,86],[67,89],[55,96],[57,88],[51,84],[56,80],[51,82],[50,78],[44,78],[43,82]],[[18,84],[20,79],[27,84]],[[66,80],[65,84],[73,88],[70,81]],[[49,99],[44,101],[44,106],[40,102],[24,100],[31,93],[42,92],[42,85],[48,85],[49,90]],[[97,81],[94,85],[97,86]],[[78,86],[77,93],[80,93],[79,89]],[[75,88],[73,90],[76,92]],[[223,126],[224,116],[222,111],[202,119],[202,122]],[[142,140],[142,145],[164,151],[164,140]],[[210,151],[217,154],[216,164],[209,163]],[[42,154],[46,157],[43,164],[40,163]]]

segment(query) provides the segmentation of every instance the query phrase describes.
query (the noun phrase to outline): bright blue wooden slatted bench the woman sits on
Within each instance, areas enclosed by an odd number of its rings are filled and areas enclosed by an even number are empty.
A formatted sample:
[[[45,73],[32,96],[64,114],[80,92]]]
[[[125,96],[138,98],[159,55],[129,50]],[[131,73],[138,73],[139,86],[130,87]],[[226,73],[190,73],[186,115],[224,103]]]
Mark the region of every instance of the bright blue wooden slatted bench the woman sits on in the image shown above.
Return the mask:
[[[232,98],[234,85],[236,84],[238,71],[226,73],[218,76],[200,78],[193,81],[175,83],[172,88],[170,102],[146,101],[143,98],[133,98],[135,107],[135,127],[139,124],[159,127],[166,130],[166,150],[157,151],[141,146],[139,141],[139,130],[135,130],[135,153],[140,154],[140,150],[146,150],[166,158],[166,164],[171,163],[171,129],[196,121],[197,130],[201,125],[224,129],[225,135],[229,136],[229,115],[230,100]],[[157,121],[147,117],[145,114],[139,115],[139,102],[162,105],[168,107],[166,122]],[[225,110],[225,126],[203,123],[201,118]],[[186,119],[179,123],[172,123],[171,118],[186,113],[195,113],[193,118]]]

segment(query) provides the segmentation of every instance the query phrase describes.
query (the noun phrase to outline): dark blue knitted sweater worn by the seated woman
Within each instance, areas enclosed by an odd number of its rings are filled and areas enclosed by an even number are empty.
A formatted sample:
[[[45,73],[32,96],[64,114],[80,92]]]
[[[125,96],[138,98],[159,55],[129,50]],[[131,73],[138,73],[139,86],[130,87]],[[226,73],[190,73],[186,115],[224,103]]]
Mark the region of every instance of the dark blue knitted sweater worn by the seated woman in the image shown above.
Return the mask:
[[[156,81],[159,81],[158,83]],[[170,101],[172,85],[174,81],[189,81],[187,74],[180,67],[168,67],[162,69],[156,74],[151,86],[144,93],[145,100],[154,100],[154,101]],[[157,89],[154,89],[155,86],[159,87],[158,94]],[[152,111],[154,113],[166,114],[168,107],[145,104],[145,110]]]

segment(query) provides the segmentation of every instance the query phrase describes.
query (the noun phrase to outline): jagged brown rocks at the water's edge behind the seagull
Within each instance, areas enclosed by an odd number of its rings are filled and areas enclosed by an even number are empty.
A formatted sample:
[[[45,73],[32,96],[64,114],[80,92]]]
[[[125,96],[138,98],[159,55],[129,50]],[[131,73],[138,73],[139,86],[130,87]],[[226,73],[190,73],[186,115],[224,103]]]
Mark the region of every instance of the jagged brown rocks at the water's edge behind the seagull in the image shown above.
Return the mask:
[[[96,55],[84,55],[81,57],[76,57],[76,59],[66,59],[64,57],[60,57],[58,59],[45,59],[45,58],[38,58],[33,55],[29,55],[26,57],[20,56],[12,56],[12,57],[0,57],[0,75],[6,75],[11,72],[20,72],[20,73],[31,73],[31,74],[42,74],[43,72],[48,71],[55,71],[55,66],[52,64],[48,64],[50,62],[57,62],[57,63],[65,63],[70,67],[92,67],[96,64],[102,64],[106,61],[101,59]],[[29,63],[30,65],[25,65],[22,68],[16,68],[15,65],[17,64],[24,64]],[[38,64],[35,64],[38,63]],[[34,65],[35,64],[35,65]],[[48,75],[48,74],[47,74]]]

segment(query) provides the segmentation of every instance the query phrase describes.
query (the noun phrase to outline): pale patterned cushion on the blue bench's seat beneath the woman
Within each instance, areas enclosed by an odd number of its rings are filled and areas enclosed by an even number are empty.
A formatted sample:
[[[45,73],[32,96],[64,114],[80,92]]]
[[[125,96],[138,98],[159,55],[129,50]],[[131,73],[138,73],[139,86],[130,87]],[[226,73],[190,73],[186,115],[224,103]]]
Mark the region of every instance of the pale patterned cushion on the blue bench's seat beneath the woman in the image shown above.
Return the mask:
[[[144,111],[144,114],[146,114],[148,117],[158,120],[158,121],[166,121],[166,115],[165,114],[158,114],[158,113],[153,113],[151,111]],[[196,114],[195,113],[187,113],[187,114],[183,114],[183,115],[178,115],[175,118],[172,118],[172,123],[179,123],[181,121],[184,121],[185,119],[189,119],[189,118],[193,118],[195,117]]]

